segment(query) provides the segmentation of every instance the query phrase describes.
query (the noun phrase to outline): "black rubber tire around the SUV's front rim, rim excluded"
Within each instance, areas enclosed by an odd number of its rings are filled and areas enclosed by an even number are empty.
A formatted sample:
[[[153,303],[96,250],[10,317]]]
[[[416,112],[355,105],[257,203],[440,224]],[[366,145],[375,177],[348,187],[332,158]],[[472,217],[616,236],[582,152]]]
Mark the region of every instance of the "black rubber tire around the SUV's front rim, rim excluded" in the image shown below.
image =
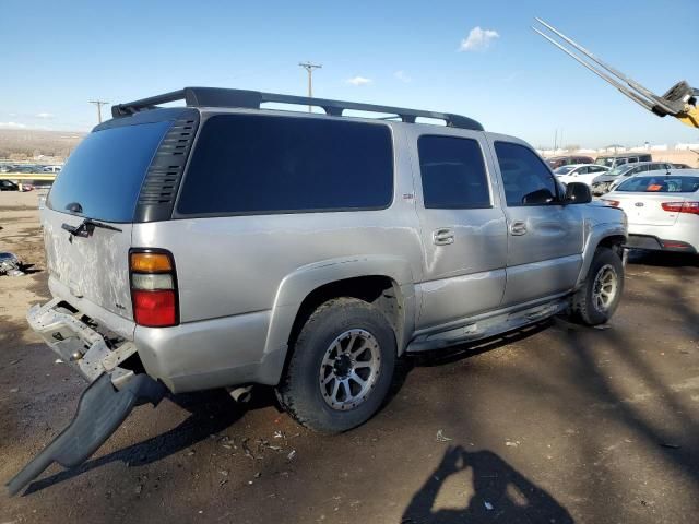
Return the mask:
[[[595,278],[606,266],[612,266],[616,272],[616,291],[608,307],[601,311],[593,302]],[[588,276],[583,285],[576,291],[571,300],[572,320],[585,325],[599,325],[609,321],[621,300],[624,293],[624,264],[621,259],[609,248],[599,248],[592,259]]]

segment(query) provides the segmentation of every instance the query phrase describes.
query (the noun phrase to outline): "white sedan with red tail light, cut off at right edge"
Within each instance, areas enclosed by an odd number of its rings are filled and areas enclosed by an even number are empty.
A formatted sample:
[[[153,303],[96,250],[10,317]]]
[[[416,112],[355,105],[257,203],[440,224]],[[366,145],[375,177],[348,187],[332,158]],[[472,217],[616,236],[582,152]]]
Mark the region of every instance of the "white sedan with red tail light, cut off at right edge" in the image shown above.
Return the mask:
[[[629,248],[699,252],[699,169],[637,175],[602,200],[625,211]]]

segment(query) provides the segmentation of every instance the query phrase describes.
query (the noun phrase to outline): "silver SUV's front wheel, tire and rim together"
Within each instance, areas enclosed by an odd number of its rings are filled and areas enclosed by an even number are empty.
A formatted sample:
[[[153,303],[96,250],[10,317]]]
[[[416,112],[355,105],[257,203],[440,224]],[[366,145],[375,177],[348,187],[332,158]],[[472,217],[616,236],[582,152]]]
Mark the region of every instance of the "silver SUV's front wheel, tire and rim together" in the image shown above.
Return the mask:
[[[572,315],[587,325],[607,322],[621,299],[624,264],[608,248],[594,254],[584,284],[572,298]]]

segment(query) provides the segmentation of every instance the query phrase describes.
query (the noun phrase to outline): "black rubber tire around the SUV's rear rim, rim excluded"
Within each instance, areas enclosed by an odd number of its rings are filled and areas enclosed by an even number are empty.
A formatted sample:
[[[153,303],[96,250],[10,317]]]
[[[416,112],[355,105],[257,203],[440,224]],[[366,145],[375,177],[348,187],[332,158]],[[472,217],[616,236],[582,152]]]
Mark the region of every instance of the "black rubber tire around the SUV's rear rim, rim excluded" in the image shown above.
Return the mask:
[[[350,330],[365,330],[378,342],[379,373],[374,388],[356,407],[339,410],[323,398],[321,362],[332,342]],[[323,433],[347,431],[367,421],[381,407],[395,367],[395,333],[381,311],[356,298],[328,300],[300,330],[286,372],[276,388],[282,407],[300,425]]]

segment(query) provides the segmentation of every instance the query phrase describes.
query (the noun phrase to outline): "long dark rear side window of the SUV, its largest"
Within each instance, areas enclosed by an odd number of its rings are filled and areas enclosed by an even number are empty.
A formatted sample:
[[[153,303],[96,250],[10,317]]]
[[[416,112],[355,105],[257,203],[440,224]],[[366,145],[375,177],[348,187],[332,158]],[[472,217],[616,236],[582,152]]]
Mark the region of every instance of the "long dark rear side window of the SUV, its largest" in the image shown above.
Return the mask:
[[[388,126],[217,115],[200,132],[180,214],[263,214],[388,207]]]

